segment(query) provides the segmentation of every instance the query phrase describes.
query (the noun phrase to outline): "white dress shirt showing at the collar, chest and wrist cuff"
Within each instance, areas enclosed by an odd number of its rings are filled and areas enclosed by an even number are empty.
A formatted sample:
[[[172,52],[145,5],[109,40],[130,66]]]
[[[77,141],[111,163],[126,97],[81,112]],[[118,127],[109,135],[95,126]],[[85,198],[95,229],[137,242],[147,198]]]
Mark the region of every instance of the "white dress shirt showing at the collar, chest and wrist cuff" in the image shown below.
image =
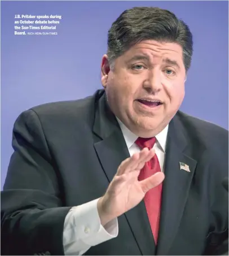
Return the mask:
[[[118,120],[118,119],[117,119]],[[133,134],[127,127],[118,120],[124,135],[126,146],[130,156],[140,151],[134,143],[138,136]],[[161,170],[164,171],[165,146],[168,134],[168,126],[157,134],[156,143],[153,146],[160,163]],[[118,235],[117,218],[107,223],[104,227],[100,223],[97,210],[99,198],[74,206],[68,212],[64,222],[63,246],[65,255],[82,255],[91,246],[108,241]]]

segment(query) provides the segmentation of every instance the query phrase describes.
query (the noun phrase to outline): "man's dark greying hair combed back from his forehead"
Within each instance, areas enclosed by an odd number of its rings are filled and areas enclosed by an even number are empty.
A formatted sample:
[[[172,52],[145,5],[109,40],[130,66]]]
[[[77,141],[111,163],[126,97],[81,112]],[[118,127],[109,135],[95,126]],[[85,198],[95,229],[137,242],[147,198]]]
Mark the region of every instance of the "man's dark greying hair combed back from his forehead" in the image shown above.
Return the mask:
[[[113,22],[108,31],[109,63],[142,40],[176,42],[182,46],[186,72],[190,68],[193,52],[190,29],[172,12],[157,7],[131,8]]]

